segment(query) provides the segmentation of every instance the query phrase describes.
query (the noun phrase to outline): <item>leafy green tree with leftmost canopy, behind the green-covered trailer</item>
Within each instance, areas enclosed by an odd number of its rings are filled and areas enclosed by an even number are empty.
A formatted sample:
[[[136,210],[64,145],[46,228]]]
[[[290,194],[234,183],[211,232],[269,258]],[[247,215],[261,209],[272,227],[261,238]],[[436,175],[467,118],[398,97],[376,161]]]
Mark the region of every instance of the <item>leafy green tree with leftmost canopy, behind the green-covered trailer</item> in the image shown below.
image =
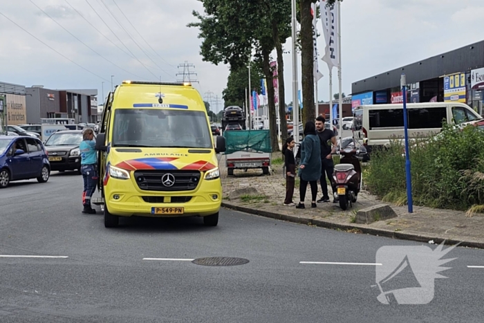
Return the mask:
[[[230,64],[231,70],[237,70],[246,66],[252,57],[252,50],[254,50],[254,63],[261,68],[268,84],[272,148],[274,151],[279,151],[270,53],[275,48],[276,42],[281,42],[280,39],[284,37],[284,33],[279,29],[274,32],[274,28],[286,26],[287,30],[287,24],[290,22],[290,16],[287,14],[285,16],[281,14],[286,17],[286,20],[283,20],[275,17],[274,12],[286,8],[280,2],[286,3],[290,9],[290,2],[277,0],[201,0],[201,2],[203,2],[205,15],[194,11],[193,15],[198,18],[198,22],[188,26],[201,30],[198,37],[204,39],[201,46],[203,60],[214,64],[221,62]],[[282,53],[281,50],[280,52]],[[282,64],[279,65],[283,68]],[[283,80],[282,70],[279,75]],[[283,100],[284,95],[279,94],[279,96]],[[285,107],[284,102],[280,105],[282,109]],[[283,115],[284,113],[281,117]],[[281,120],[284,124],[286,123],[285,119],[281,118]]]

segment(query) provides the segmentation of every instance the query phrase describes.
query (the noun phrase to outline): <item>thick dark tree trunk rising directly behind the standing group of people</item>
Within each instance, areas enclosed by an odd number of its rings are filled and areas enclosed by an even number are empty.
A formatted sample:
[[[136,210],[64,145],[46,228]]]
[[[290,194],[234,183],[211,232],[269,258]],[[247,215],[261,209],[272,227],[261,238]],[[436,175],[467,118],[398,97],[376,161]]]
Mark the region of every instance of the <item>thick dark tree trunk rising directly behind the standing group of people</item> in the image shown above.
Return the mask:
[[[301,73],[303,123],[315,121],[314,44],[311,0],[301,0]]]

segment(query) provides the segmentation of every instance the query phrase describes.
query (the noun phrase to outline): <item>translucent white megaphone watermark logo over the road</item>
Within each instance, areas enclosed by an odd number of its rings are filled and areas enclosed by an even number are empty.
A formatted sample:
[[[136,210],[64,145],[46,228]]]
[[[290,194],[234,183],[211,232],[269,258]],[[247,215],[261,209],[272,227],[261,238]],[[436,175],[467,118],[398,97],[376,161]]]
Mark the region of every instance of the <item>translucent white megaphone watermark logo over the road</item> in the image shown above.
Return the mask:
[[[456,246],[443,250],[444,242],[432,250],[428,246],[384,246],[376,252],[377,299],[382,304],[429,304],[434,299],[440,267],[452,259],[441,259]]]

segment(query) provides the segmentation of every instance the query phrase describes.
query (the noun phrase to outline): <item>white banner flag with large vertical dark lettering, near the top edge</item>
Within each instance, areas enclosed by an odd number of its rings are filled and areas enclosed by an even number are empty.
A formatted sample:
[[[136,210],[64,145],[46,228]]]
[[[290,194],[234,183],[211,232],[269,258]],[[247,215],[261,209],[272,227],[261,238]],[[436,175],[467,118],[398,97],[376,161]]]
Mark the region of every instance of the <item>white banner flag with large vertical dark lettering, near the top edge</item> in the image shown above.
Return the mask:
[[[331,70],[333,66],[339,66],[338,62],[338,6],[326,7],[326,0],[319,0],[319,10],[321,11],[321,21],[323,24],[324,39],[326,40],[326,48],[324,50],[324,57],[322,60],[328,64]]]

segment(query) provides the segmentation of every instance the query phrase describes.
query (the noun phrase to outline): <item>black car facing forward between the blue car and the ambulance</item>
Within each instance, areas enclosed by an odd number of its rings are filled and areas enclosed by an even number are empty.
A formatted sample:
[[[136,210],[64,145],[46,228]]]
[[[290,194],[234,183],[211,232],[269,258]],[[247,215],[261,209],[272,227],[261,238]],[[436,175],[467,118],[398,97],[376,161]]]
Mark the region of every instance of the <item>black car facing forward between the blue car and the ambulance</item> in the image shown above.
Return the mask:
[[[82,130],[62,130],[53,133],[46,141],[50,169],[64,172],[75,170],[81,174]]]

